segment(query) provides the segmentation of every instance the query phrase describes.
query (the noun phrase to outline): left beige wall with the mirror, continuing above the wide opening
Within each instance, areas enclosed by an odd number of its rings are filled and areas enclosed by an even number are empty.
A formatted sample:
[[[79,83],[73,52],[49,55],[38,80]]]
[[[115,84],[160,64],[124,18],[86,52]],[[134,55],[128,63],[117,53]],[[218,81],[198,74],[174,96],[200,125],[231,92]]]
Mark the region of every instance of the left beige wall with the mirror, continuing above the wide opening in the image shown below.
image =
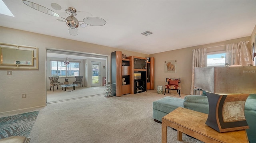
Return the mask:
[[[0,112],[20,110],[37,106],[46,106],[46,49],[72,50],[86,53],[111,55],[113,51],[122,51],[127,56],[148,57],[122,49],[84,43],[59,37],[52,37],[17,29],[0,27],[0,42],[38,47],[38,70],[0,69]],[[72,47],[72,48],[70,48]],[[26,93],[27,98],[22,98]]]

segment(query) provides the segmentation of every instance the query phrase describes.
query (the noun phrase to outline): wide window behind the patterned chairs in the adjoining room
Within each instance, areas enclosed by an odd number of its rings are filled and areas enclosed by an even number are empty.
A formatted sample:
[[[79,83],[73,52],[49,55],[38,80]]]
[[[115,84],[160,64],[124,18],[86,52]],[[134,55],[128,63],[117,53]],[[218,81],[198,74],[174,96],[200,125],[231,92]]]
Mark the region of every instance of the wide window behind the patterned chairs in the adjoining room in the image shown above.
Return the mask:
[[[50,61],[51,76],[78,76],[80,75],[80,62],[72,62],[65,66],[64,61]]]

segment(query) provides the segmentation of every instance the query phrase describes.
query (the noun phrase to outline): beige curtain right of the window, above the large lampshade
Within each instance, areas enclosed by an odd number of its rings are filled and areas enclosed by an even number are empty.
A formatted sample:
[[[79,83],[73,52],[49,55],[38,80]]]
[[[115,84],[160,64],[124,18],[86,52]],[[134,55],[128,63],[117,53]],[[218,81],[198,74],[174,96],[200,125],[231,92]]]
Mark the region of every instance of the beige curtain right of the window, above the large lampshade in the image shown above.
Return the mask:
[[[248,41],[240,41],[226,45],[225,63],[242,66],[251,64],[251,53],[246,46],[247,43]]]

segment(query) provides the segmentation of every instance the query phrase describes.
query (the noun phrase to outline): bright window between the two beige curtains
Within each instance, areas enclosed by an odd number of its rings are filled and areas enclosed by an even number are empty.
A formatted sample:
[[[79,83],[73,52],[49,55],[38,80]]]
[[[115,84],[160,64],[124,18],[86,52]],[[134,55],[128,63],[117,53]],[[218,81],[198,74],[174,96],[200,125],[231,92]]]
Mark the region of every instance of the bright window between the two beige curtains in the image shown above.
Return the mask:
[[[225,51],[207,53],[207,67],[224,67],[225,57]]]

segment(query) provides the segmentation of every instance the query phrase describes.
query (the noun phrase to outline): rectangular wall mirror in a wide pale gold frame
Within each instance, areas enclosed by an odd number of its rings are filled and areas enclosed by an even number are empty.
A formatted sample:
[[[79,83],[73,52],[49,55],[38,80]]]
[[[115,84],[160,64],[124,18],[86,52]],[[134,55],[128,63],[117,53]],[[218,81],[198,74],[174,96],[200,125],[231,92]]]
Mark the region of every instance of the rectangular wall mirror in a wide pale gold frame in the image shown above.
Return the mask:
[[[0,69],[38,69],[38,47],[0,43]]]

